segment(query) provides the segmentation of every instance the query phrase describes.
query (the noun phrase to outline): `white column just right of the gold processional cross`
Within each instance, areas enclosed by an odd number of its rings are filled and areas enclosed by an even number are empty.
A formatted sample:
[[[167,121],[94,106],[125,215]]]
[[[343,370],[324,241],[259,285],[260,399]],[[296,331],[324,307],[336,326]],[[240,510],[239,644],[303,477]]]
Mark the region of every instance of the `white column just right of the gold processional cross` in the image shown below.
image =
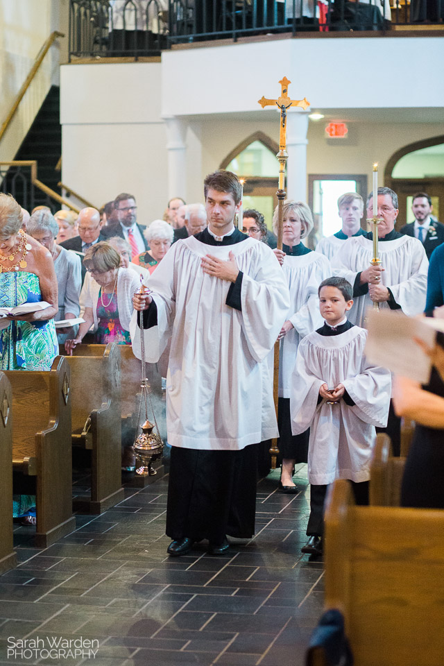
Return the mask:
[[[287,198],[307,201],[307,130],[311,111],[287,111]]]

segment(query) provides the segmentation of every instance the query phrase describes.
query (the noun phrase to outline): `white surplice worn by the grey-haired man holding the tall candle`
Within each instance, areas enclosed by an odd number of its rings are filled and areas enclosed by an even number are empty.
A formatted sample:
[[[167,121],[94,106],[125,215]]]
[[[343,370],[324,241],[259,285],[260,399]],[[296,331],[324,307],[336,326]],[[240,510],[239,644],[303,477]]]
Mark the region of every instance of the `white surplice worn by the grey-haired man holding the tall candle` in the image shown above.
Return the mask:
[[[402,236],[393,241],[380,241],[378,247],[384,268],[381,284],[391,290],[404,314],[420,314],[425,308],[429,267],[424,246],[417,238]],[[365,236],[349,238],[334,255],[334,275],[341,275],[353,286],[357,273],[370,266],[372,257],[373,241]],[[348,319],[361,326],[366,308],[372,305],[372,300],[368,293],[354,297],[353,300]],[[388,307],[388,303],[379,303],[379,307]]]

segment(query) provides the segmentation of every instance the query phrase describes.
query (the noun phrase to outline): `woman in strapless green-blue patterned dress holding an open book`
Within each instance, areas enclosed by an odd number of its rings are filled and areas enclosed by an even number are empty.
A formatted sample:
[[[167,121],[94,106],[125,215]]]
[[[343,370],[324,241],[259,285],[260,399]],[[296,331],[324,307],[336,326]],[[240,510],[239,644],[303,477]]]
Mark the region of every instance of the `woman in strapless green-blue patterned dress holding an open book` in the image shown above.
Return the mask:
[[[49,307],[0,318],[0,370],[50,370],[58,353],[56,273],[48,250],[21,227],[21,207],[12,196],[0,194],[0,307],[40,301]],[[32,504],[35,497],[14,497],[14,516],[28,515],[27,522],[35,524],[28,511]]]

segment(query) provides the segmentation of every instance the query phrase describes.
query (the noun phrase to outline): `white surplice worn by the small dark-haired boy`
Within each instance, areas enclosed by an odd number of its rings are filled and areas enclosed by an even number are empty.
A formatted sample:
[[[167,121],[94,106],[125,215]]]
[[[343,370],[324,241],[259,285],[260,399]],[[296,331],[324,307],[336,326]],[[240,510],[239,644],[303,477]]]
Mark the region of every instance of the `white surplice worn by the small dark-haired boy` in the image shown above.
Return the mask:
[[[367,481],[375,426],[385,427],[390,404],[391,375],[370,366],[364,357],[367,332],[357,326],[336,336],[316,332],[298,349],[291,393],[293,435],[310,428],[308,478],[310,484],[334,479]],[[322,384],[339,383],[355,405],[318,404]]]

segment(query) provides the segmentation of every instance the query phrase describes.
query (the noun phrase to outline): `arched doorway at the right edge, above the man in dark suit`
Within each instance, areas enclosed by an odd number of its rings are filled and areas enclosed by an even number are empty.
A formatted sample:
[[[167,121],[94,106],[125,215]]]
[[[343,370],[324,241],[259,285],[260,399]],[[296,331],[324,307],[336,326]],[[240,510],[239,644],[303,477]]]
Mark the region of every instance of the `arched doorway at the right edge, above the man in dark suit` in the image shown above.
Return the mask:
[[[432,214],[444,220],[444,135],[409,144],[386,164],[384,182],[398,194],[397,228],[413,222],[413,195],[426,192],[432,198]],[[441,218],[441,219],[440,219]]]

